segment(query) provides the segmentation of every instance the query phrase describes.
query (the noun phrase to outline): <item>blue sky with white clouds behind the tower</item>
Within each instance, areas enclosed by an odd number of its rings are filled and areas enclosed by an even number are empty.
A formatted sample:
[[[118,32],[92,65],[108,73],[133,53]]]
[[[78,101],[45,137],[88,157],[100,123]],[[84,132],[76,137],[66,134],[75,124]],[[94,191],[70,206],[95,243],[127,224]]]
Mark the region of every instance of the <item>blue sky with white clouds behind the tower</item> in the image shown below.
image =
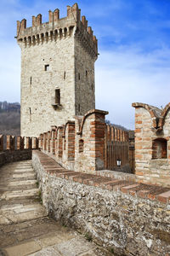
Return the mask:
[[[1,0],[0,101],[20,102],[20,48],[16,20],[60,9],[75,1]],[[132,102],[164,108],[170,102],[170,1],[80,0],[77,2],[99,40],[95,64],[96,108],[108,110],[107,119],[133,129]]]

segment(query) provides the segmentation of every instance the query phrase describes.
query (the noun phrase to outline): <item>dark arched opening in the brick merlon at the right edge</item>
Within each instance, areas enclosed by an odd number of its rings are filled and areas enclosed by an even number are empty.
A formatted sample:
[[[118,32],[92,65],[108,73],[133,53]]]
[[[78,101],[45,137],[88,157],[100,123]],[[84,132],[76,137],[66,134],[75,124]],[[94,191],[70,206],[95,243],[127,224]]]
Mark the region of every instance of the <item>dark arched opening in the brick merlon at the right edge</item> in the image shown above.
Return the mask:
[[[157,138],[152,142],[152,159],[167,158],[167,140]]]

